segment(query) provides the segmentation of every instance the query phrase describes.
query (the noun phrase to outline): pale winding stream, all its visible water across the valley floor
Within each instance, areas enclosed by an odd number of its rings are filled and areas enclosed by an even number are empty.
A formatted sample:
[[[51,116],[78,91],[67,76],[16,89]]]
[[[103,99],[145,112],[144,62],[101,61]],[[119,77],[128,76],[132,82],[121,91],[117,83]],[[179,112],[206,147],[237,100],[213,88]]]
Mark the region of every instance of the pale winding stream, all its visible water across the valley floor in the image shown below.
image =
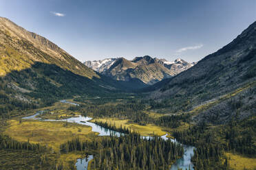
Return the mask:
[[[61,102],[63,102],[63,103],[68,102],[68,104],[74,104],[70,101],[65,101],[65,100],[62,100]],[[76,105],[76,104],[74,104],[74,105]],[[98,132],[98,136],[109,136],[110,134],[120,136],[122,134],[120,132],[116,132],[114,130],[109,130],[106,127],[101,127],[100,125],[96,125],[95,123],[89,122],[89,120],[92,119],[90,117],[83,117],[83,116],[79,115],[79,117],[71,117],[68,119],[54,120],[54,119],[41,119],[41,118],[36,117],[39,114],[43,114],[43,110],[36,112],[36,114],[34,114],[32,116],[23,117],[22,119],[36,119],[36,120],[40,120],[40,121],[67,121],[70,123],[89,125],[92,127],[93,132]],[[148,138],[151,138],[151,136],[142,136],[142,138],[148,139]],[[167,134],[161,136],[161,138],[163,138],[164,140],[167,140],[168,139]],[[171,139],[171,141],[173,143],[179,143],[175,139]],[[183,145],[183,147],[184,147],[184,155],[182,156],[182,158],[176,160],[176,162],[173,165],[171,165],[170,170],[177,170],[178,168],[180,168],[182,170],[185,170],[185,169],[193,170],[193,163],[191,162],[191,157],[193,156],[193,149],[195,149],[195,147],[190,146],[190,145]],[[76,169],[77,170],[86,170],[87,166],[88,166],[88,162],[90,160],[92,160],[93,158],[94,158],[94,156],[89,155],[86,158],[76,160]]]

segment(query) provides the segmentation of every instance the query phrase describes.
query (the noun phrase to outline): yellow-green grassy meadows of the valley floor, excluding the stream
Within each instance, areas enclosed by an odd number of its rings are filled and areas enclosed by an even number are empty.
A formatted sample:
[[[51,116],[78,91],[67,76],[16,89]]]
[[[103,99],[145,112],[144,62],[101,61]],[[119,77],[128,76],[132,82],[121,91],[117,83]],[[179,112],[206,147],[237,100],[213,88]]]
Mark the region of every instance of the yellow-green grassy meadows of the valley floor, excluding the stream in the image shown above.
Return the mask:
[[[69,117],[77,117],[79,114],[83,114],[82,112],[79,112],[72,107],[74,106],[57,102],[50,107],[30,110],[28,111],[28,114],[32,115],[38,110],[46,110],[43,114],[39,115],[39,117],[42,119],[67,119]],[[149,114],[149,117],[152,117],[153,119],[157,119],[164,115],[154,112],[147,112],[147,114]],[[177,128],[161,127],[152,123],[139,125],[138,123],[134,123],[129,119],[109,117],[96,117],[92,119],[91,122],[107,123],[107,125],[115,125],[115,127],[120,129],[127,127],[129,130],[138,132],[142,136],[162,136],[168,133],[169,137],[172,137],[173,132],[175,131],[182,132],[189,129],[189,124],[185,122],[182,122]],[[40,143],[41,145],[47,145],[47,147],[52,148],[52,154],[47,154],[46,156],[47,160],[54,162],[55,165],[68,167],[67,169],[70,169],[70,167],[75,169],[74,164],[76,160],[78,158],[83,158],[85,154],[88,153],[72,151],[68,154],[60,154],[61,144],[67,143],[67,141],[71,141],[74,138],[79,138],[81,141],[93,141],[97,140],[96,138],[98,137],[96,132],[92,132],[92,127],[87,125],[56,121],[27,120],[21,119],[21,116],[9,119],[6,122],[6,125],[2,128],[2,133],[20,142],[29,141],[30,143]],[[231,154],[230,152],[226,152],[224,155],[228,158],[231,169],[246,168],[253,170],[256,167],[256,158],[246,158],[237,154]],[[26,161],[23,162],[23,164],[31,165],[32,168],[34,168],[32,166],[33,159],[36,158],[40,161],[42,159],[42,155],[32,153],[31,151],[8,151],[1,149],[0,169],[8,169],[8,167],[15,167],[14,165],[21,164],[23,160],[22,157],[28,157]],[[21,169],[24,169],[25,167],[23,164],[21,164]]]

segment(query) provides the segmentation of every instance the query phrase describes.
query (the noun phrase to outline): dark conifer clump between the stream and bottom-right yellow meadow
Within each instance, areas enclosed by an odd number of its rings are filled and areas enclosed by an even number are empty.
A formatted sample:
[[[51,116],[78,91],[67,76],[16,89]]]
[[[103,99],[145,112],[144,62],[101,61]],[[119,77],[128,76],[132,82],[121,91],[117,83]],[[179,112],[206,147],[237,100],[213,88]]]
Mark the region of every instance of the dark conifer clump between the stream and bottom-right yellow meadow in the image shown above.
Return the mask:
[[[215,143],[215,135],[208,133],[206,129],[206,123],[202,122],[189,127],[189,130],[175,131],[173,136],[181,143],[196,147],[191,158],[195,170],[228,169],[228,162],[222,163],[224,147],[219,143]]]

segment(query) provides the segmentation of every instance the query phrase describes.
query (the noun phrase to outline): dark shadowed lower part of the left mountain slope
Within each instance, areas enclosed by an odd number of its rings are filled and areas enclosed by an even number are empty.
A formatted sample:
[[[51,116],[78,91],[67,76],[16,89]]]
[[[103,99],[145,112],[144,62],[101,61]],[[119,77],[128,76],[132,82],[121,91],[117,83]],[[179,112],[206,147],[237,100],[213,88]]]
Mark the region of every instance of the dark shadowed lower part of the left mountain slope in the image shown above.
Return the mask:
[[[0,77],[0,114],[49,106],[76,95],[103,97],[121,91],[109,77],[84,77],[56,64],[35,62],[28,69],[11,71]],[[127,87],[124,87],[127,89]],[[123,90],[122,90],[123,91]]]

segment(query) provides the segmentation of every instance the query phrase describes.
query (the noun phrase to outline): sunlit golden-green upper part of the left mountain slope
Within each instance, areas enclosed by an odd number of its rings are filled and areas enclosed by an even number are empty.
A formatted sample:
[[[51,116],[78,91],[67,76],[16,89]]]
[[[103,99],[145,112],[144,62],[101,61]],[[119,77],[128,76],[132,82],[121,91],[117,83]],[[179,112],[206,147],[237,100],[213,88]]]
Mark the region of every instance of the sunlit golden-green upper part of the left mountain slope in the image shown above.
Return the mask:
[[[56,64],[85,77],[99,77],[50,40],[28,32],[12,21],[0,17],[0,75],[29,68],[34,62]]]

